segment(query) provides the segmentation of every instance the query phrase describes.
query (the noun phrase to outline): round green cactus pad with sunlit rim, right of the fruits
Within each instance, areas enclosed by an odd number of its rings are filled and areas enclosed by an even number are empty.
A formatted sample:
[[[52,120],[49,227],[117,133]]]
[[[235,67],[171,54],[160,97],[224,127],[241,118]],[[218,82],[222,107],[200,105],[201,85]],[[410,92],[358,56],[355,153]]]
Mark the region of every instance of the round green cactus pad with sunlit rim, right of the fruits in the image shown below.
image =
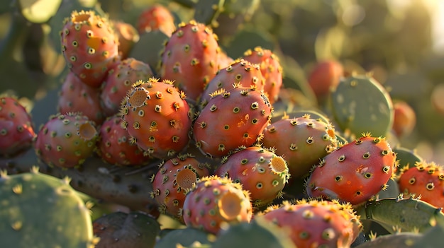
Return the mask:
[[[341,78],[330,100],[333,119],[345,132],[357,137],[367,132],[373,136],[386,136],[392,128],[392,98],[370,76]]]

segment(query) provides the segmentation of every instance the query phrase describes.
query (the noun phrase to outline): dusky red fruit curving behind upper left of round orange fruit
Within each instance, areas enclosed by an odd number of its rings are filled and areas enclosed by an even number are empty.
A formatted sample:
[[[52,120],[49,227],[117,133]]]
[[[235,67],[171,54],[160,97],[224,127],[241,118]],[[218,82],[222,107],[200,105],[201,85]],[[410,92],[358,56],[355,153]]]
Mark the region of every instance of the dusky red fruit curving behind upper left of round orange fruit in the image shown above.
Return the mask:
[[[133,83],[141,80],[148,81],[154,73],[150,66],[143,61],[128,58],[118,61],[105,78],[101,88],[101,105],[106,116],[117,114],[122,100],[131,90]]]

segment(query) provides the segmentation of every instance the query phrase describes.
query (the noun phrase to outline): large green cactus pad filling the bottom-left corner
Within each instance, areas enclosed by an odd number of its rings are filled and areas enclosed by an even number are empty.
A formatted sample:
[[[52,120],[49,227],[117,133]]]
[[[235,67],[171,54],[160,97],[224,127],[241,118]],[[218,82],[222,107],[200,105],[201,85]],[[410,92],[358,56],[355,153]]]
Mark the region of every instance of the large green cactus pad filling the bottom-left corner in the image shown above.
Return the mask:
[[[4,173],[0,199],[1,247],[94,247],[89,209],[67,179]]]

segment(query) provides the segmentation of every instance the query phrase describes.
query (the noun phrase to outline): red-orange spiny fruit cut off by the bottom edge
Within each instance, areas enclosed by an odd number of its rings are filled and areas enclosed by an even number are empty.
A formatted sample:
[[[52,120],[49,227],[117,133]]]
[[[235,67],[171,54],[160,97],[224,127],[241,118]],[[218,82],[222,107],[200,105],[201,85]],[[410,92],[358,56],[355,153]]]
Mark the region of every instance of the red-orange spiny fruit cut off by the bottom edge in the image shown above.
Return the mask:
[[[350,247],[362,224],[350,204],[337,201],[284,201],[259,217],[284,230],[296,247]]]

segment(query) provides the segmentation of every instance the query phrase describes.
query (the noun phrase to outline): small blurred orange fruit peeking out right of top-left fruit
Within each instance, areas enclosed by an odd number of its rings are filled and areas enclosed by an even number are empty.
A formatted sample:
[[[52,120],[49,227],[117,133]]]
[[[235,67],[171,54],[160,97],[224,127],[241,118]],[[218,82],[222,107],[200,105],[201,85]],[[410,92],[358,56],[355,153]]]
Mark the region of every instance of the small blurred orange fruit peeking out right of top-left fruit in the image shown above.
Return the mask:
[[[118,39],[118,54],[121,59],[128,59],[131,49],[140,40],[138,30],[130,23],[120,20],[113,20],[112,24]]]

